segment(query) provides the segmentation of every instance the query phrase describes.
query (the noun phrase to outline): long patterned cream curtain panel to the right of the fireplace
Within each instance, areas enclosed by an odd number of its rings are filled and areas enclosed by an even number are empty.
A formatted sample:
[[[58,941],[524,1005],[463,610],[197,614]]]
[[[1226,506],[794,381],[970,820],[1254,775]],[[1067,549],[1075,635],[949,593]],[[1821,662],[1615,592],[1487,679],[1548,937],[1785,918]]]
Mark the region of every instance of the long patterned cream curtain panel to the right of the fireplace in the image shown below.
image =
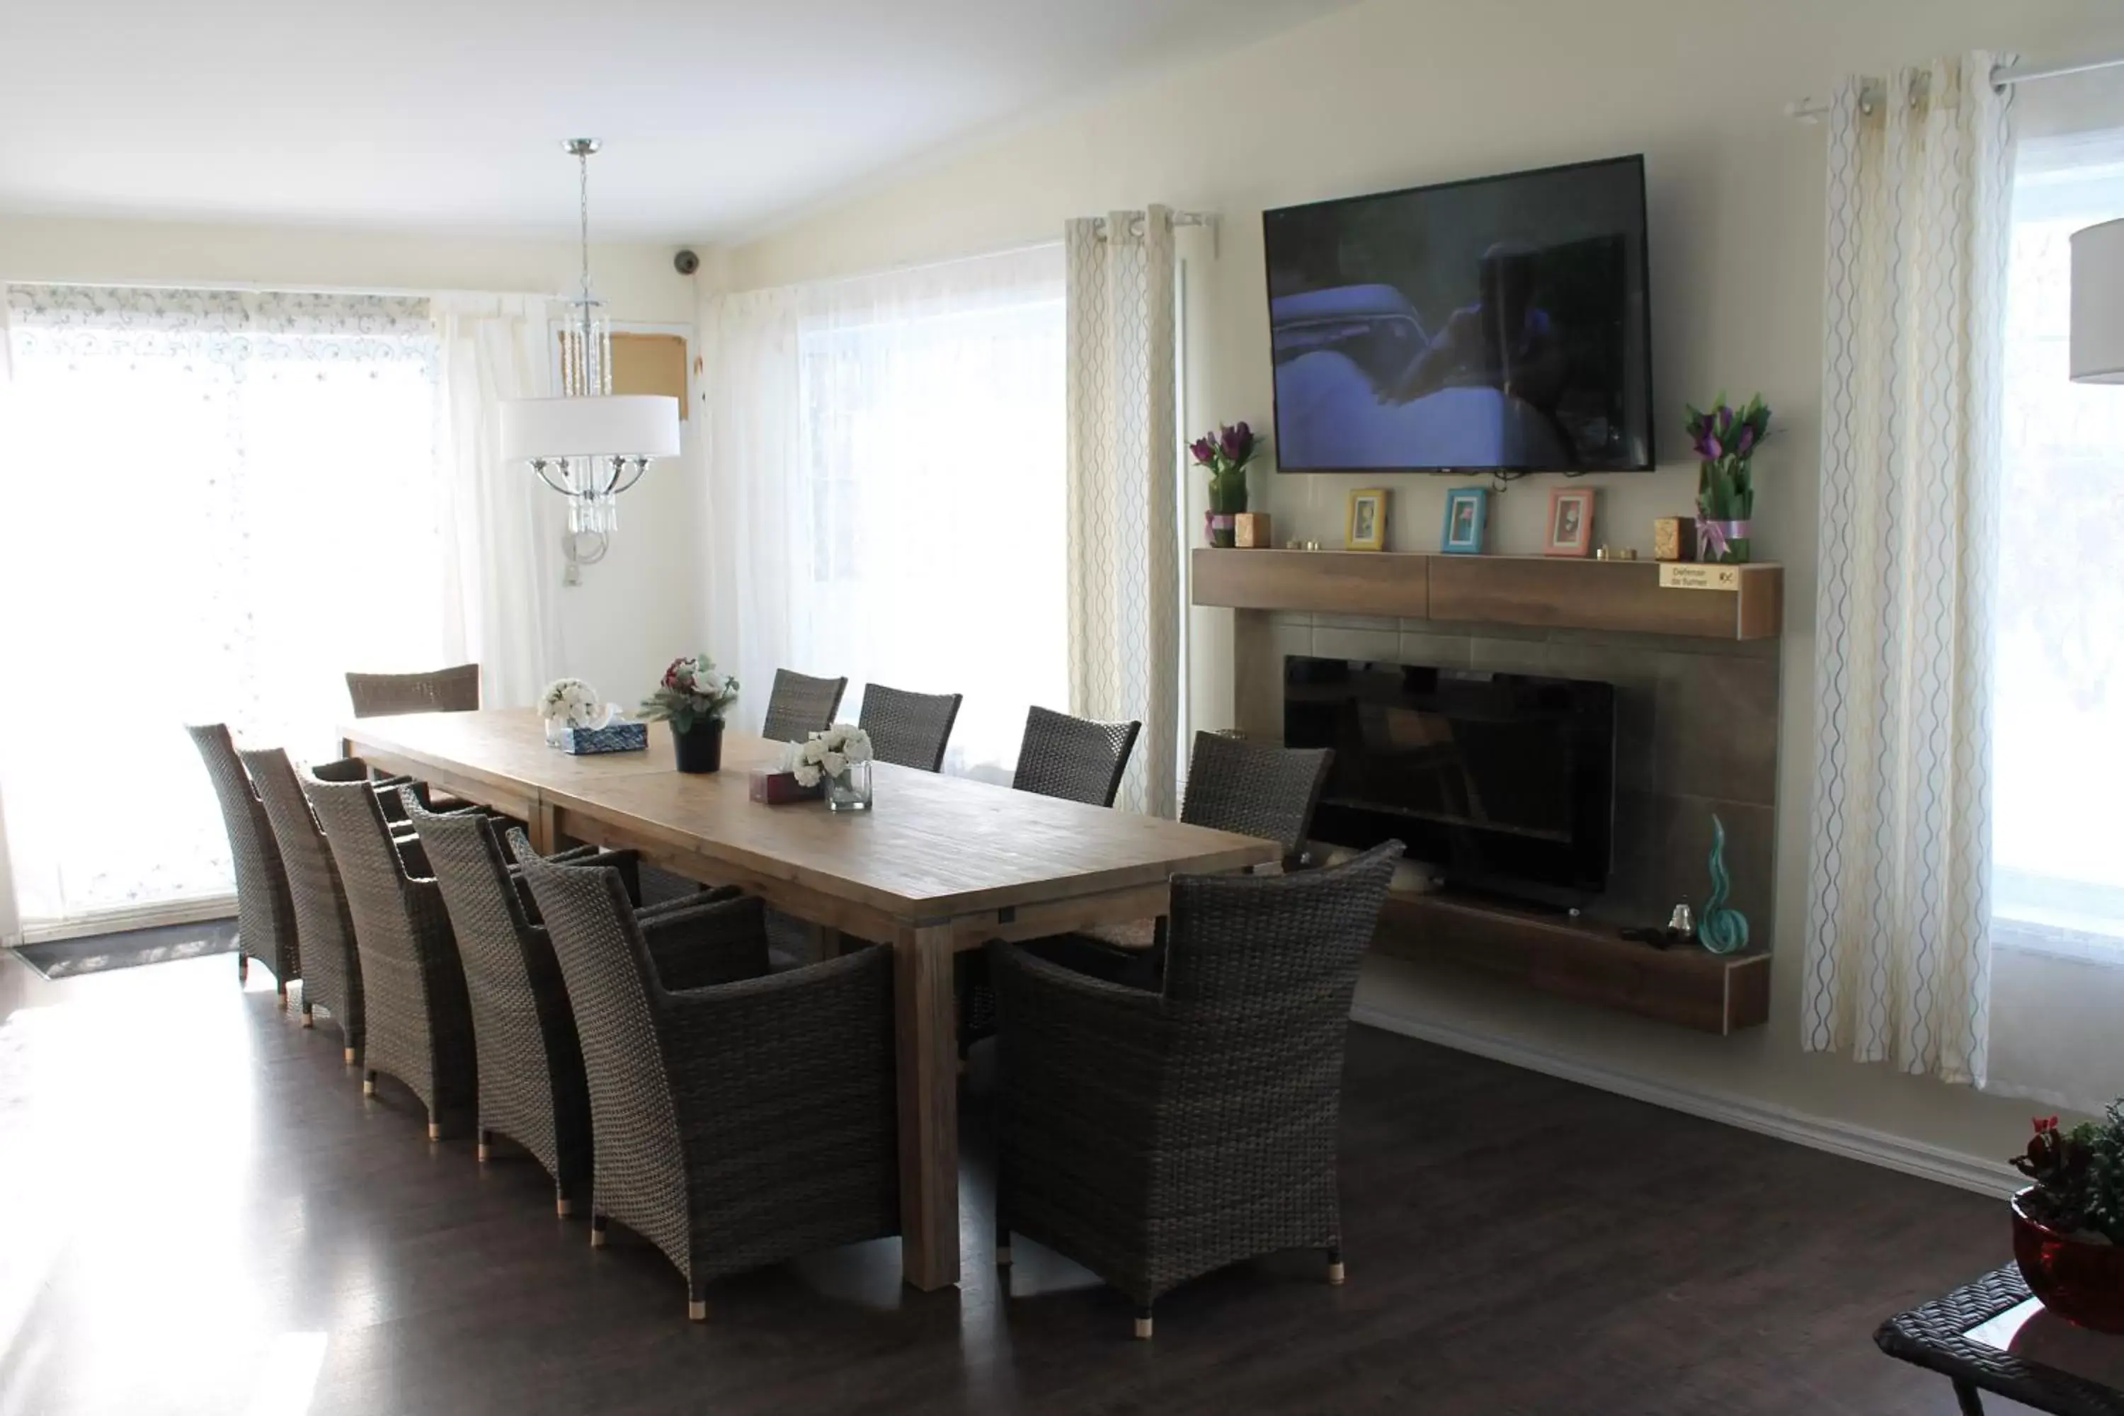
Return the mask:
[[[2011,219],[1994,55],[1829,115],[1803,1040],[1982,1083],[1990,592]]]

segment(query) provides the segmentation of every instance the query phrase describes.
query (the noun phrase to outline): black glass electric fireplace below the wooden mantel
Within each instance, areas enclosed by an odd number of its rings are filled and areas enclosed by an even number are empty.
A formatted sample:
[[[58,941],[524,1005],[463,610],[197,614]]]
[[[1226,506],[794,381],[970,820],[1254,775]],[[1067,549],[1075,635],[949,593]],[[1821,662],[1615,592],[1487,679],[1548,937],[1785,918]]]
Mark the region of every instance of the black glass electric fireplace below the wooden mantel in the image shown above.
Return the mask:
[[[1334,747],[1319,841],[1400,839],[1449,883],[1527,900],[1608,887],[1610,684],[1294,654],[1283,741]]]

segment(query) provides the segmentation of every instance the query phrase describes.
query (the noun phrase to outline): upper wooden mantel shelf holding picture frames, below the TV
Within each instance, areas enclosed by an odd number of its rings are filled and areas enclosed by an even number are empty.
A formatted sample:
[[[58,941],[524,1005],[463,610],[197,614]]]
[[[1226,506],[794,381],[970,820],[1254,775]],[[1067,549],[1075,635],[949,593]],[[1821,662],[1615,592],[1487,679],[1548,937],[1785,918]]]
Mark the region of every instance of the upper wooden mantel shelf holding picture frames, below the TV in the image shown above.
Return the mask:
[[[1740,571],[1737,590],[1669,590],[1659,584],[1655,560],[1198,548],[1194,603],[1446,624],[1776,639],[1784,633],[1784,567],[1733,569]]]

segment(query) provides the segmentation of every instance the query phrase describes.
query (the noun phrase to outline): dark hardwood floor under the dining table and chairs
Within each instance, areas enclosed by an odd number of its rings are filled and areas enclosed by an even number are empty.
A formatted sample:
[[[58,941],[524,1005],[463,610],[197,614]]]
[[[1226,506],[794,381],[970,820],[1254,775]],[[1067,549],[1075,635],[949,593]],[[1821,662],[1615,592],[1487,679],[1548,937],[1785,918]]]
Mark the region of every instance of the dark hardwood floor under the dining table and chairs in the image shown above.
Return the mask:
[[[0,1416],[1946,1414],[1873,1325],[2007,1257],[1999,1202],[1355,1028],[1349,1284],[1243,1265],[1145,1344],[1032,1244],[1005,1293],[975,1121],[962,1289],[869,1244],[688,1325],[678,1272],[593,1253],[529,1159],[363,1102],[263,970],[47,983],[0,951]]]

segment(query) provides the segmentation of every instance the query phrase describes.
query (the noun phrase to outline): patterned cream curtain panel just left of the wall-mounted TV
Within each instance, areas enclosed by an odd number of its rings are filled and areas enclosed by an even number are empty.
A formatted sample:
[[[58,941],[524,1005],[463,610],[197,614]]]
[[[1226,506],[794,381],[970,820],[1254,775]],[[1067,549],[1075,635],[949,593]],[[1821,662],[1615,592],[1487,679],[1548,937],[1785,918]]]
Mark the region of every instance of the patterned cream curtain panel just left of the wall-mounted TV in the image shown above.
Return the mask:
[[[1070,221],[1070,711],[1141,720],[1119,807],[1175,813],[1181,565],[1172,212]]]

